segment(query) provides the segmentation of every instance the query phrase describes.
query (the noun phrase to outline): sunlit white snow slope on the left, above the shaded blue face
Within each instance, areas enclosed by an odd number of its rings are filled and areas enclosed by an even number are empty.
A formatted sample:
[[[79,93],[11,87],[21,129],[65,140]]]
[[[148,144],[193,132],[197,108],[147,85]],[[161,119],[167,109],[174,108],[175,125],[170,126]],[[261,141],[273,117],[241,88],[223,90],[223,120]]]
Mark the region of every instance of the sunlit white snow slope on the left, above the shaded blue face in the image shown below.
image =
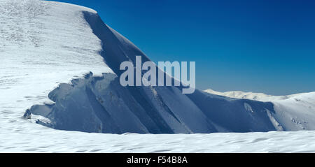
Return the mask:
[[[77,17],[90,9],[1,0],[0,10],[1,122],[17,121],[29,106],[49,102],[47,94],[61,82],[111,71],[99,55],[101,41]]]

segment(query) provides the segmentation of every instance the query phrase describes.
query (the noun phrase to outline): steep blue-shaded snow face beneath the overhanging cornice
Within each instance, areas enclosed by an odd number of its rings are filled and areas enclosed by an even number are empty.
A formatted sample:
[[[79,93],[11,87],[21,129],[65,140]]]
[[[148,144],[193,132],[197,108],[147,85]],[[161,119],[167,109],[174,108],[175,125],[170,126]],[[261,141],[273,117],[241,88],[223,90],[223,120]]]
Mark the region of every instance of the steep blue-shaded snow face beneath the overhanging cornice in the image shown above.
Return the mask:
[[[62,84],[49,97],[54,104],[33,106],[25,117],[38,119],[55,129],[99,133],[211,133],[279,129],[271,113],[272,103],[223,98],[196,90],[182,94],[183,87],[122,87],[119,66],[142,56],[137,46],[108,27],[94,12],[83,10],[86,22],[102,41],[104,61],[116,74],[92,73]]]

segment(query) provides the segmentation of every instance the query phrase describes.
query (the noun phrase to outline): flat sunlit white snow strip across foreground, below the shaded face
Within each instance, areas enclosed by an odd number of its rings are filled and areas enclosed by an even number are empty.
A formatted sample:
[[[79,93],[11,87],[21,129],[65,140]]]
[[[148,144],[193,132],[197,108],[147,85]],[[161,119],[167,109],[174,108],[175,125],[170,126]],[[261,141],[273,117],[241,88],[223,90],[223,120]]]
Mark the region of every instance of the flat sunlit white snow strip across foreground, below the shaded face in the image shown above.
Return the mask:
[[[315,131],[116,135],[32,128],[1,134],[0,152],[315,152]]]

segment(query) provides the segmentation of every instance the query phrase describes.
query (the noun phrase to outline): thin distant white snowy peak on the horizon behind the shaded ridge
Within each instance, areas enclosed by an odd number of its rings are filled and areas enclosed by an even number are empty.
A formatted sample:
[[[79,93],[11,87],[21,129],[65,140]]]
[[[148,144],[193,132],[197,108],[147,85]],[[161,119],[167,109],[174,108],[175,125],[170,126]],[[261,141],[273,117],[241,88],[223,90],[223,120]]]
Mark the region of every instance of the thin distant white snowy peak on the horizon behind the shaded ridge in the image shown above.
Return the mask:
[[[292,94],[286,96],[272,96],[263,93],[253,93],[253,92],[241,92],[241,91],[230,91],[230,92],[217,92],[212,89],[204,90],[209,94],[217,94],[220,96],[228,96],[235,99],[251,99],[255,101],[280,101],[293,98],[295,96],[300,96],[302,94]]]

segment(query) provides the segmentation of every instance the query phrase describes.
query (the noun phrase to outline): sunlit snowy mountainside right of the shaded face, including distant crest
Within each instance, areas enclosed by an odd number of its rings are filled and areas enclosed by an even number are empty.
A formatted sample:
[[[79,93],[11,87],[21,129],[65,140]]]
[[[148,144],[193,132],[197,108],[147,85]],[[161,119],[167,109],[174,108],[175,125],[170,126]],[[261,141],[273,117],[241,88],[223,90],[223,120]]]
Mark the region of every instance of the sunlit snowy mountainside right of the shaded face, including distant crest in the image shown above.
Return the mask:
[[[274,105],[274,112],[270,112],[269,116],[275,124],[281,125],[279,130],[298,131],[314,130],[315,128],[315,92],[288,96],[272,96],[240,91],[216,92],[211,89],[204,92],[237,99],[270,101]]]

